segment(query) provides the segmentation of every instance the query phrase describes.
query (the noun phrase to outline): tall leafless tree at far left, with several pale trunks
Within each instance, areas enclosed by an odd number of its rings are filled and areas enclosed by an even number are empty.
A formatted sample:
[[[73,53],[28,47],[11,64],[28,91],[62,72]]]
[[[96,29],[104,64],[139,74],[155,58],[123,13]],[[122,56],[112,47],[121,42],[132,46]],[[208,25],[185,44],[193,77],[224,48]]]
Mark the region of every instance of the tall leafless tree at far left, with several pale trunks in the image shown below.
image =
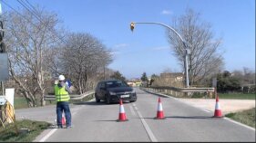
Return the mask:
[[[27,10],[5,14],[5,42],[10,73],[26,97],[29,107],[40,100],[45,105],[46,51],[56,45],[56,14],[37,9],[38,20]]]

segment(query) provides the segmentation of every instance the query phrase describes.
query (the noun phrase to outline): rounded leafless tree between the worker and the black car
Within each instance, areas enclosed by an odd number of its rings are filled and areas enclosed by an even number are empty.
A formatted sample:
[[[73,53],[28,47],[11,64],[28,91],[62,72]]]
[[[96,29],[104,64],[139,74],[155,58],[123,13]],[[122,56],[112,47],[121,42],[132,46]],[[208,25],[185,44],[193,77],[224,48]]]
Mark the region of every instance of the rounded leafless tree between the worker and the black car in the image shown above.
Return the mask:
[[[112,62],[110,50],[88,33],[71,33],[60,55],[62,71],[73,79],[77,91],[82,94],[92,90],[89,82],[105,71]]]

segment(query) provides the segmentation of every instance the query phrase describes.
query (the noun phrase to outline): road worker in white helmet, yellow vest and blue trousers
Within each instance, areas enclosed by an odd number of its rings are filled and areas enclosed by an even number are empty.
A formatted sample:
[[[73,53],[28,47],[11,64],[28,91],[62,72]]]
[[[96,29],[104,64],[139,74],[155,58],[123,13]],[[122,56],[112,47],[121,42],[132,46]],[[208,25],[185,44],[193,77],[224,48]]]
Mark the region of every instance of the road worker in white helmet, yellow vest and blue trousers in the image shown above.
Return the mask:
[[[55,85],[56,95],[56,122],[57,127],[62,129],[62,114],[65,113],[67,128],[71,128],[71,112],[69,109],[68,101],[70,100],[69,94],[71,93],[69,87],[65,83],[65,76],[59,75],[58,83]]]

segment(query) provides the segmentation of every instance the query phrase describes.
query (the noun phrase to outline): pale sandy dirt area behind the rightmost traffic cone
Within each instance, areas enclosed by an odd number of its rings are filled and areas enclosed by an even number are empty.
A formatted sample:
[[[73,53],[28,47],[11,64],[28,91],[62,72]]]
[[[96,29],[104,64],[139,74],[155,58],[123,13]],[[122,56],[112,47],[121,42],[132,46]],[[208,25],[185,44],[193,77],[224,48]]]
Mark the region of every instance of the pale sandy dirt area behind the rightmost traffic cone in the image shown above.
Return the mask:
[[[178,99],[201,109],[214,111],[216,100],[214,99]],[[223,114],[249,110],[255,108],[255,100],[219,100],[220,110]]]

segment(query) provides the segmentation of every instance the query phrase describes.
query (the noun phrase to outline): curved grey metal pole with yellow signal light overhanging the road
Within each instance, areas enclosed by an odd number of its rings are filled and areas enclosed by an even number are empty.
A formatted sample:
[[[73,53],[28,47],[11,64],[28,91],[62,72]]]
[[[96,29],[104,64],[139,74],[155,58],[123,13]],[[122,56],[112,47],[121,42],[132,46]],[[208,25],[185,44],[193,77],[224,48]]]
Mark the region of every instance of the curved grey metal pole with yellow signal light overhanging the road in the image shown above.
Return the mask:
[[[134,27],[135,27],[135,24],[159,24],[159,25],[162,25],[162,26],[165,26],[167,27],[168,29],[170,29],[172,32],[176,33],[178,36],[179,36],[179,39],[181,40],[181,42],[183,43],[184,47],[185,47],[185,73],[186,73],[186,87],[189,88],[189,70],[188,70],[188,56],[189,56],[189,48],[188,48],[188,43],[185,42],[183,40],[183,38],[180,36],[179,33],[177,33],[172,27],[170,27],[169,25],[167,24],[161,24],[161,23],[154,23],[154,22],[131,22],[130,23],[130,30],[133,31],[134,30]]]

